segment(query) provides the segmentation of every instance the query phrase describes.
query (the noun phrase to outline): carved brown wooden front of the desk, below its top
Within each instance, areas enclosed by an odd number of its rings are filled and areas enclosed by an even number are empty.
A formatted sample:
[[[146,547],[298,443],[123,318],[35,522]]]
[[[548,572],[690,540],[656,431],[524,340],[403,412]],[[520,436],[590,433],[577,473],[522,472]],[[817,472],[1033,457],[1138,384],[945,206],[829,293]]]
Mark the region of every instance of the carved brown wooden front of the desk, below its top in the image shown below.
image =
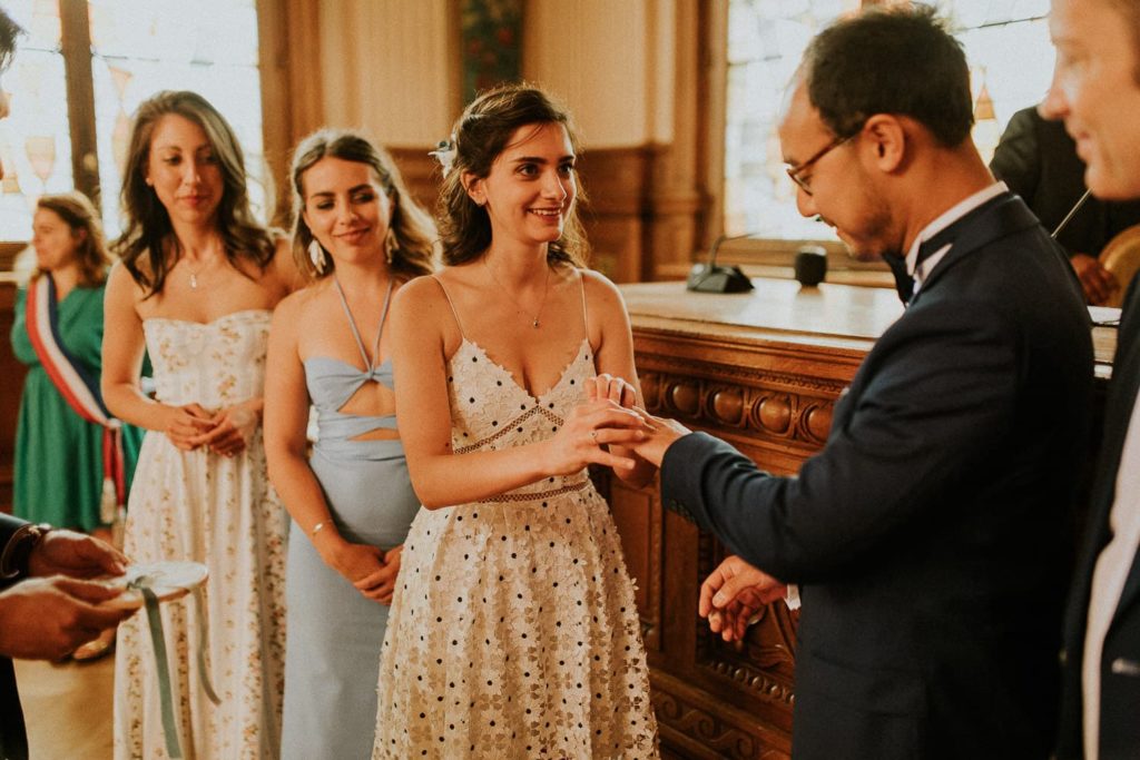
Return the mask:
[[[624,289],[630,297],[649,287],[658,286]],[[636,312],[633,321],[649,410],[723,438],[777,474],[795,473],[823,446],[836,401],[872,344],[800,344],[762,329]],[[724,547],[682,516],[662,513],[657,489],[641,498],[612,490],[638,580],[665,757],[789,758],[798,613],[782,602],[769,605],[742,644],[724,643],[697,614],[700,585],[724,558]]]

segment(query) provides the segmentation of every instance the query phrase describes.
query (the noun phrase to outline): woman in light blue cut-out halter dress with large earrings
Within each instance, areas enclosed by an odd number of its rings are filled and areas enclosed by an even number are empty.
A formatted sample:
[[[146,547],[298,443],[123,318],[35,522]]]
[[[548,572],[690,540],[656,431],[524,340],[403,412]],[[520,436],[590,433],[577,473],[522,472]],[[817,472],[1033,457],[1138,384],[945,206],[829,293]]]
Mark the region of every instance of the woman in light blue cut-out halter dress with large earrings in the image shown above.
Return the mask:
[[[306,138],[291,177],[294,256],[311,285],[277,307],[266,381],[269,476],[293,516],[282,758],[366,758],[377,652],[420,509],[388,314],[408,280],[432,271],[435,229],[391,158],[356,132]]]

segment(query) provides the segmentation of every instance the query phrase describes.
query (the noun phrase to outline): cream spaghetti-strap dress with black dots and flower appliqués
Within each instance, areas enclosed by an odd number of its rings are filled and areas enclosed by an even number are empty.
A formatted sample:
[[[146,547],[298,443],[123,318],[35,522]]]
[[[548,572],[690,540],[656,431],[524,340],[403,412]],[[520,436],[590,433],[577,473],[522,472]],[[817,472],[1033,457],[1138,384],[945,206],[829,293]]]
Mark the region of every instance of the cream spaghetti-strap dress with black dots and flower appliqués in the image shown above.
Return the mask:
[[[595,374],[584,338],[535,398],[464,337],[449,362],[453,449],[552,436]],[[374,759],[658,757],[633,582],[585,469],[421,509],[401,563]]]

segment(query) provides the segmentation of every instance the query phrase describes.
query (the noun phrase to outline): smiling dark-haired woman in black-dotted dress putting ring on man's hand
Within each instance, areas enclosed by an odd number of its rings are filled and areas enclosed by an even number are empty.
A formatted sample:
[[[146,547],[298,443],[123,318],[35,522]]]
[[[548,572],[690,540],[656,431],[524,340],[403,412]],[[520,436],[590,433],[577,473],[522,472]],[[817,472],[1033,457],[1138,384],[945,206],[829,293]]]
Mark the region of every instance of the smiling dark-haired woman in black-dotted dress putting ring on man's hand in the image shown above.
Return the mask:
[[[654,758],[633,582],[586,466],[635,485],[618,291],[583,268],[564,111],[512,85],[455,129],[434,277],[392,304],[396,404],[424,508],[380,667],[374,758]],[[625,379],[622,379],[625,378]]]

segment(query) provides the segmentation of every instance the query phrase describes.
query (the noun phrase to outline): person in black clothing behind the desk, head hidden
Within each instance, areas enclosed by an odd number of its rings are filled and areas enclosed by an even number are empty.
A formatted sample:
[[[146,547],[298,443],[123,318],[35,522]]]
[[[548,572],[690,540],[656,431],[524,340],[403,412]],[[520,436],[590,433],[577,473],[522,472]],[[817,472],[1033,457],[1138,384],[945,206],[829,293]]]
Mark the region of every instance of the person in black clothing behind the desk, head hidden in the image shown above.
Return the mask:
[[[1024,108],[1009,120],[990,171],[1017,193],[1048,230],[1054,230],[1084,195],[1084,162],[1060,122],[1042,119],[1036,108]],[[1065,222],[1057,242],[1065,246],[1091,304],[1101,304],[1117,283],[1098,256],[1117,234],[1140,224],[1140,203],[1088,198]]]

